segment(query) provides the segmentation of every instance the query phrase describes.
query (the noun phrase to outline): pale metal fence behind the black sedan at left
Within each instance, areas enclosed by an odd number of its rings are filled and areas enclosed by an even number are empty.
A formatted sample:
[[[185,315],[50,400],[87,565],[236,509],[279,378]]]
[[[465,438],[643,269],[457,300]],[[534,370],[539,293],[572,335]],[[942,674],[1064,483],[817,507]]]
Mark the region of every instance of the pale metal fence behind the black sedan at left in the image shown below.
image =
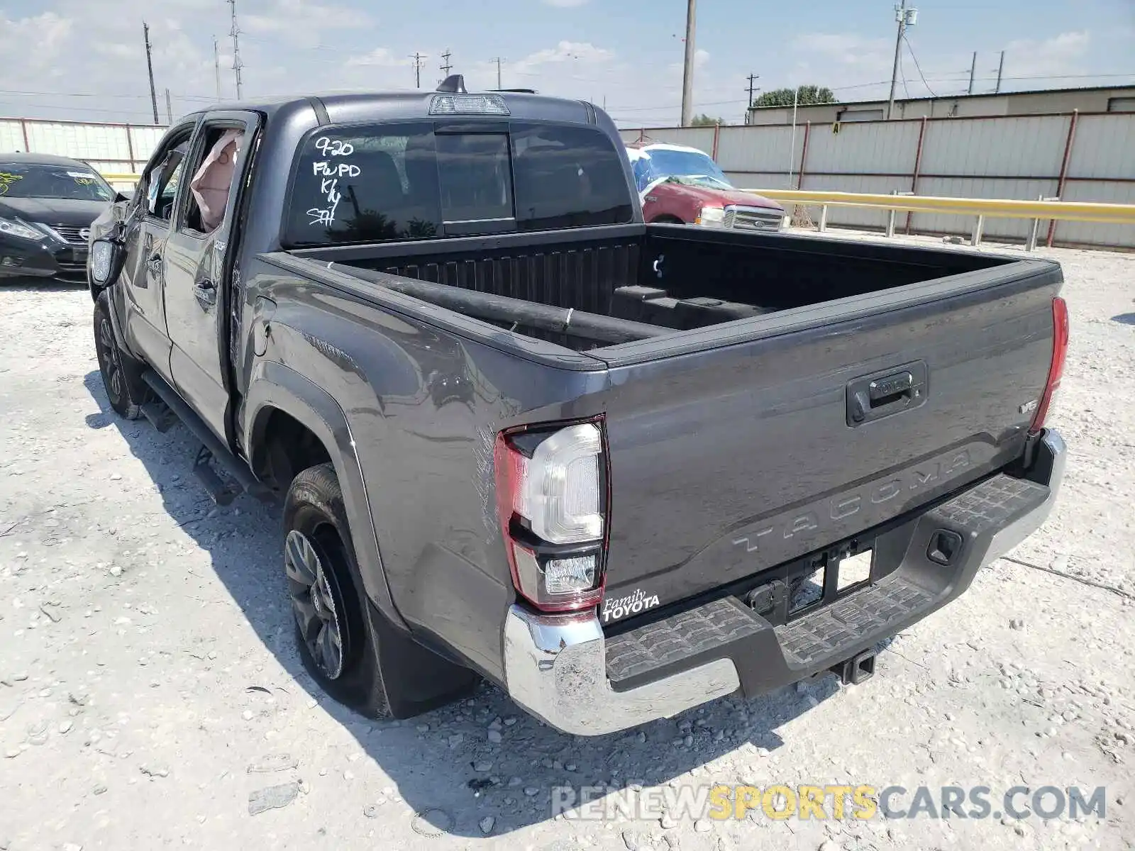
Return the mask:
[[[137,172],[165,132],[153,125],[0,118],[0,154],[52,153],[85,160],[107,174]]]

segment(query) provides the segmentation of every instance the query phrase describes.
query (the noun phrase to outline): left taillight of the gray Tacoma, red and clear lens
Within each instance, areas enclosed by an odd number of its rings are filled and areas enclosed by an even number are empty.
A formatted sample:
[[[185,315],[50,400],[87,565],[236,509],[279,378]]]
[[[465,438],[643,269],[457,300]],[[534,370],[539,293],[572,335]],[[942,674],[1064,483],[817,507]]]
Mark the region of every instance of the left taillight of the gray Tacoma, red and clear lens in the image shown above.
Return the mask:
[[[516,590],[545,612],[597,605],[609,503],[602,421],[502,431],[494,462]]]

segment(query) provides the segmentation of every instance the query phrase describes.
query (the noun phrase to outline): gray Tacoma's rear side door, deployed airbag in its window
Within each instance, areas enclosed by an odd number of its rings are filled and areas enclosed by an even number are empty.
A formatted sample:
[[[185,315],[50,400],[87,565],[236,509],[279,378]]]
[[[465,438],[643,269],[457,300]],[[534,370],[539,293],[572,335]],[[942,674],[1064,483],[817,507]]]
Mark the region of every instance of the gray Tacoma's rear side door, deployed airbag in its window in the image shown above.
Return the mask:
[[[215,112],[197,128],[163,264],[174,386],[226,443],[225,260],[255,132],[249,112]]]

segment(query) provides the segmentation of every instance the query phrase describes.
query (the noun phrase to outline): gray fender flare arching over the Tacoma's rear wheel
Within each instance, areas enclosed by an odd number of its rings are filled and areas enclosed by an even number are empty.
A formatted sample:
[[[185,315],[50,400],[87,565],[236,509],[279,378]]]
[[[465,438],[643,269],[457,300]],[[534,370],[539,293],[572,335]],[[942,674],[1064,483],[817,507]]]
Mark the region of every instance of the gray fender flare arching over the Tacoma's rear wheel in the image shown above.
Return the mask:
[[[393,624],[409,631],[386,581],[375,514],[354,449],[351,424],[343,408],[330,394],[289,366],[277,361],[258,362],[244,399],[242,444],[250,462],[254,447],[263,439],[272,410],[288,414],[322,441],[343,488],[344,508],[351,523],[351,539],[363,591]]]

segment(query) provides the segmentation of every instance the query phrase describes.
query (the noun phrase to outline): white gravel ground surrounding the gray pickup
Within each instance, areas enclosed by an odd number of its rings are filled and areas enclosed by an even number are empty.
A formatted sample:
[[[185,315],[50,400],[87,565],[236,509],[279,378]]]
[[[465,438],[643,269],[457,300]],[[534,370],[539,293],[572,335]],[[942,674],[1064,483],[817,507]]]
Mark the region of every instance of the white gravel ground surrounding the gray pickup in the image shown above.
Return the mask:
[[[1053,416],[1071,456],[1044,530],[860,686],[825,677],[603,739],[489,686],[402,723],[325,698],[293,648],[275,512],[215,508],[183,428],[110,413],[85,292],[6,285],[0,850],[1132,848],[1135,255],[1039,253],[1063,263],[1073,314]],[[1107,786],[1107,812],[550,816],[564,784],[715,783],[984,785],[994,802]]]

